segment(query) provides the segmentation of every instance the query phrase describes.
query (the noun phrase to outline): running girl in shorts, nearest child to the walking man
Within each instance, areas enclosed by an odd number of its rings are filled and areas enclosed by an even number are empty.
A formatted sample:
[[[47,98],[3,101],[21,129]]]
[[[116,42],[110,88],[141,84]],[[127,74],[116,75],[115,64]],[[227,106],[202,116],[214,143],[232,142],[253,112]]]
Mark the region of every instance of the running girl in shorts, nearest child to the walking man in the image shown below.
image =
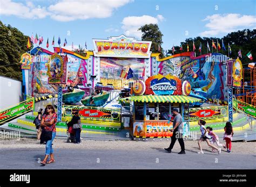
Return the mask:
[[[201,137],[198,141],[198,146],[199,146],[199,149],[200,149],[198,154],[204,154],[204,152],[202,150],[202,147],[201,147],[201,142],[202,141],[206,141],[208,146],[212,147],[213,149],[218,150],[218,153],[220,154],[221,149],[211,145],[211,143],[209,141],[209,139],[211,139],[211,136],[208,135],[207,130],[205,128],[205,124],[206,124],[206,122],[201,120],[201,119],[198,121],[198,125],[200,125],[200,131],[201,131]]]

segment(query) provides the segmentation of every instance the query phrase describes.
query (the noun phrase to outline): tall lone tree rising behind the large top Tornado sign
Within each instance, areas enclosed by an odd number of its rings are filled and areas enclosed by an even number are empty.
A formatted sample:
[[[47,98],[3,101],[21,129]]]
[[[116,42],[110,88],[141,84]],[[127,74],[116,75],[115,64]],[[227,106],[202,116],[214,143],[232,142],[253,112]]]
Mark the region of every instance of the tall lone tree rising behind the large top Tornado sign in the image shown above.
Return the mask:
[[[160,53],[160,57],[164,57],[164,49],[161,48],[160,52],[158,51],[158,47],[163,44],[163,34],[159,30],[157,24],[146,24],[138,29],[138,31],[142,31],[142,40],[143,41],[152,41],[151,52],[152,53]]]

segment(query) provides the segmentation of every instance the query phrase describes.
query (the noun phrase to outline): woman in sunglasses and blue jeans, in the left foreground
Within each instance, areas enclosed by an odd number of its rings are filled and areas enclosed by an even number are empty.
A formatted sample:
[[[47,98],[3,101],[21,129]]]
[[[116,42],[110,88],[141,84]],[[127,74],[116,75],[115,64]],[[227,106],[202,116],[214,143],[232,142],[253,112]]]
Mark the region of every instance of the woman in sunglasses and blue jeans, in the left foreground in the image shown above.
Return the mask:
[[[43,115],[41,120],[41,127],[43,128],[43,131],[51,131],[52,138],[51,140],[46,141],[45,157],[44,157],[44,160],[41,162],[41,164],[44,166],[46,163],[55,162],[55,159],[53,156],[52,141],[56,136],[56,127],[55,127],[56,123],[57,123],[57,114],[52,105],[47,105],[46,113]],[[49,155],[50,155],[50,161],[47,161]]]

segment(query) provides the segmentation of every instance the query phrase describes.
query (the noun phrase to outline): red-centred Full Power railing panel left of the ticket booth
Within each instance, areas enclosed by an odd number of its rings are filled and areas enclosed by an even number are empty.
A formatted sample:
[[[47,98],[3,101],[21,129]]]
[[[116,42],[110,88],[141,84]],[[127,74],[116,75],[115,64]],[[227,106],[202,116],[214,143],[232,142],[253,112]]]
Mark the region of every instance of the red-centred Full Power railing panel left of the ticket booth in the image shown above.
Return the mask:
[[[103,107],[63,105],[63,117],[72,117],[72,113],[79,111],[81,119],[96,119],[120,122],[120,109],[107,109]]]

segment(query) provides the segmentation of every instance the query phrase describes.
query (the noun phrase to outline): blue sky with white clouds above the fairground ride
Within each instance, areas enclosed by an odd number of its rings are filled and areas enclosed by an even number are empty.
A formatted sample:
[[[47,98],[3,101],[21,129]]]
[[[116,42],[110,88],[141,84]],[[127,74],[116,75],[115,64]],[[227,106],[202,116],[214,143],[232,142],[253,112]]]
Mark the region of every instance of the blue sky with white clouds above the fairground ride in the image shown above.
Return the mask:
[[[142,0],[0,0],[0,18],[4,24],[17,27],[26,35],[55,35],[93,49],[92,39],[120,34],[140,39],[137,29],[157,23],[164,34],[161,46],[170,49],[186,38],[223,37],[228,32],[256,28],[256,1],[142,1]],[[187,34],[187,35],[186,35]]]

